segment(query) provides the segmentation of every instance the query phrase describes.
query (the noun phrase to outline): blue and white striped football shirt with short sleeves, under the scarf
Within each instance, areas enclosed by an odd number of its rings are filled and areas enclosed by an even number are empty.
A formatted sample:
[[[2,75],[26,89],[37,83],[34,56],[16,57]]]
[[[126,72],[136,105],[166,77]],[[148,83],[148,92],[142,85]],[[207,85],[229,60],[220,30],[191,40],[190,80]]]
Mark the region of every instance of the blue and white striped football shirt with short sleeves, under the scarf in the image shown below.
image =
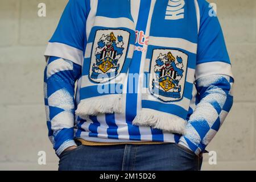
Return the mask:
[[[61,57],[83,66],[86,42],[90,28],[93,26],[97,2],[97,0],[70,0],[68,2],[59,25],[51,40],[49,40],[46,56]],[[229,56],[217,17],[209,16],[209,3],[204,0],[195,2],[200,18],[195,77],[200,78],[213,74],[232,76]],[[137,40],[129,73],[140,74],[143,72],[150,30],[150,11],[153,11],[154,4],[155,0],[131,0],[131,13],[136,24]],[[128,79],[133,78],[127,78],[127,82],[131,81]],[[80,102],[80,86],[81,78],[77,82],[76,104]],[[75,129],[75,137],[94,142],[177,142],[180,138],[177,134],[163,132],[151,127],[132,125],[138,110],[141,109],[141,95],[138,94],[141,88],[142,81],[136,81],[136,79],[133,82],[132,93],[129,85],[124,85],[127,94],[124,102],[126,110],[123,114],[100,114],[90,116],[86,121],[75,117],[77,127]],[[192,95],[193,98],[187,119],[192,114],[193,109],[195,109],[196,100],[198,101],[199,98],[195,85],[193,85]]]

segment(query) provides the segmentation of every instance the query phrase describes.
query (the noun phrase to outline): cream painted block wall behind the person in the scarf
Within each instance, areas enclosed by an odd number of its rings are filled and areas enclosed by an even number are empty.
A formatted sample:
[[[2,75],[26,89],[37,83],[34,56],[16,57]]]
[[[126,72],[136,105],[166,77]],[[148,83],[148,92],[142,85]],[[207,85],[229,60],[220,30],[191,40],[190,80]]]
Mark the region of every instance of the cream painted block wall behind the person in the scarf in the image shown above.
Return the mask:
[[[38,4],[47,16],[39,17]],[[235,77],[234,105],[208,150],[217,165],[203,169],[256,169],[256,1],[211,0],[224,30]],[[42,56],[67,0],[0,1],[0,169],[57,169],[47,138]],[[46,151],[47,165],[38,165]]]

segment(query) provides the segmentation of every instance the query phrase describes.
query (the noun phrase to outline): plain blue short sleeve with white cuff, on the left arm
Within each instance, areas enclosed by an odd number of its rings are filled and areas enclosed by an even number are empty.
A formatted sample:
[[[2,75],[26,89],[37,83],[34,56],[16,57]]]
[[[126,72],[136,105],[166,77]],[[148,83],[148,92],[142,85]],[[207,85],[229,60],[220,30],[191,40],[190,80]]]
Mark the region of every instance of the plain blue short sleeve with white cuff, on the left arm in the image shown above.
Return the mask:
[[[86,19],[90,11],[89,0],[69,0],[59,24],[48,42],[44,56],[62,57],[82,65],[86,44]]]

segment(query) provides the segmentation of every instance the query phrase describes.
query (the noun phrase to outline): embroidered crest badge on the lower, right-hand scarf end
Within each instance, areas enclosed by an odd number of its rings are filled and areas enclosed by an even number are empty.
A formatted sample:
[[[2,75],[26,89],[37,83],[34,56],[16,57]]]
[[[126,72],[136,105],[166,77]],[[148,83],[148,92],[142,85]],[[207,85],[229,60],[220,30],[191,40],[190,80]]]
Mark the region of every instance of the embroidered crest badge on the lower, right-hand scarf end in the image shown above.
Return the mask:
[[[150,92],[162,101],[183,97],[188,56],[174,49],[154,49],[150,69]]]

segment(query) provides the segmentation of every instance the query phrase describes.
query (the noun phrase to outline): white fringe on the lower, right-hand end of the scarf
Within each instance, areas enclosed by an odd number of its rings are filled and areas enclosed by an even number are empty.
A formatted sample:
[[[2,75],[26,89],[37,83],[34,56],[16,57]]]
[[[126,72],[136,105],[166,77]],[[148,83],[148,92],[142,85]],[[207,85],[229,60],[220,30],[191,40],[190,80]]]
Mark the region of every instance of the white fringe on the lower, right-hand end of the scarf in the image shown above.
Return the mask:
[[[154,129],[184,134],[187,122],[176,115],[152,109],[142,109],[135,117],[133,125],[151,126]]]

